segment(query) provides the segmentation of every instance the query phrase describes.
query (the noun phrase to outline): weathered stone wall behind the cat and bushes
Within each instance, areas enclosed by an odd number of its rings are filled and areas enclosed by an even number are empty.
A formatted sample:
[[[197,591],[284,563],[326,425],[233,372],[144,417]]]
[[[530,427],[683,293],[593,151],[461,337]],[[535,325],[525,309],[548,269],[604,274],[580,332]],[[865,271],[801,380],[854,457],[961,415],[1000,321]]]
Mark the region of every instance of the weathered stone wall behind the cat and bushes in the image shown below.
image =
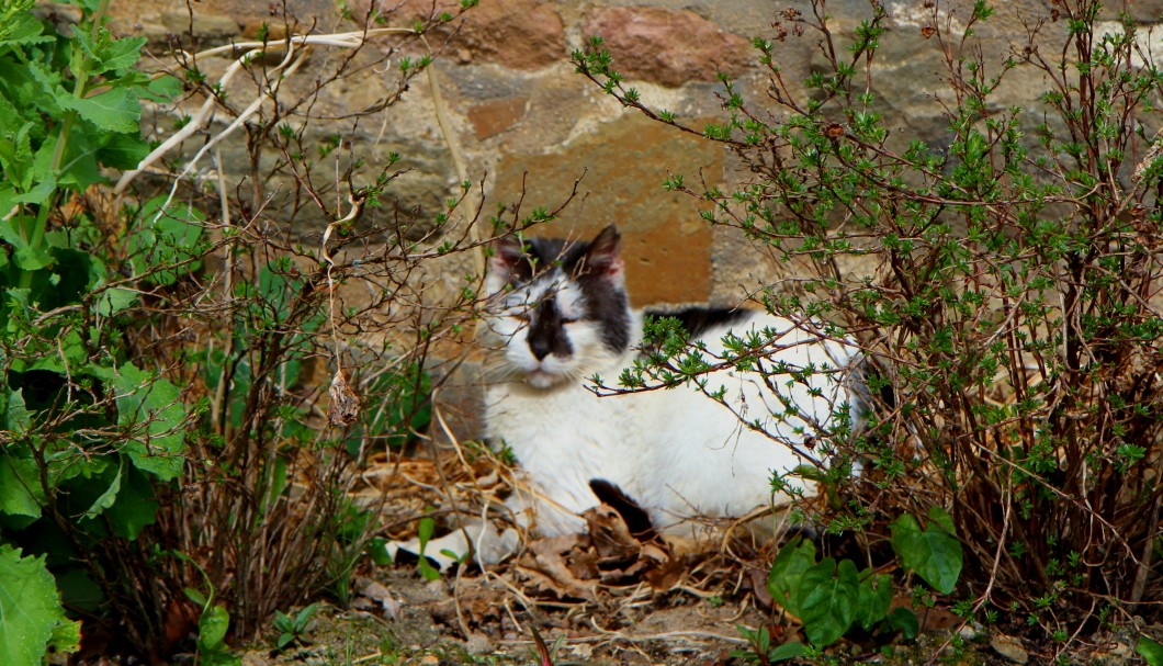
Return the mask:
[[[944,56],[940,41],[927,38],[923,30],[928,3],[883,2],[892,19],[875,59],[873,92],[885,105],[894,141],[941,145],[947,141],[942,103],[948,100],[940,83]],[[330,0],[199,0],[191,9],[173,0],[114,0],[110,10],[117,31],[144,35],[160,52],[167,35],[193,34],[201,45],[226,43],[252,38],[264,22],[280,26],[285,19],[300,29],[357,29],[371,8],[383,10],[387,24],[409,26],[434,5],[455,8],[450,0],[350,0],[344,17]],[[786,5],[795,2],[481,0],[463,21],[454,22],[455,30],[429,35],[429,43],[441,48],[435,67],[455,142],[469,177],[484,184],[486,210],[519,200],[527,212],[552,209],[580,178],[578,196],[543,232],[584,237],[618,223],[638,306],[739,302],[741,287],[770,275],[771,263],[730,232],[709,229],[698,216],[697,202],[664,192],[662,181],[670,170],[688,182],[727,186],[745,174],[716,145],[621,108],[573,71],[569,53],[587,36],[602,36],[615,69],[641,91],[645,103],[701,127],[721,113],[715,98],[722,87],[715,81],[719,69],[739,78],[745,98],[764,96],[768,79],[756,65],[750,38],[772,37],[772,23]],[[1055,0],[993,5],[996,15],[977,30],[992,63],[1000,64],[1027,43],[1027,26],[1044,21],[1047,36],[1065,30],[1065,21],[1055,20]],[[809,10],[807,2],[798,6]],[[956,30],[971,7],[971,0],[942,1],[939,17]],[[842,35],[870,14],[862,0],[830,0],[827,10]],[[1120,10],[1142,24],[1144,44],[1160,43],[1163,29],[1147,29],[1160,21],[1163,0],[1106,9],[1111,29],[1118,27]],[[321,53],[317,62],[328,57]],[[816,38],[789,36],[778,43],[777,59],[785,80],[802,80],[821,64]],[[342,115],[374,103],[390,92],[388,77],[379,72],[362,71],[341,87],[326,88],[316,108]],[[311,72],[298,76],[311,80]],[[999,100],[1033,110],[1047,88],[1040,73],[1019,67],[1006,78]],[[335,131],[351,138],[352,155],[372,164],[388,151],[400,152],[413,171],[393,184],[392,194],[402,207],[435,214],[441,201],[458,191],[458,178],[427,80],[415,79],[405,102],[385,114],[383,127],[336,123]]]

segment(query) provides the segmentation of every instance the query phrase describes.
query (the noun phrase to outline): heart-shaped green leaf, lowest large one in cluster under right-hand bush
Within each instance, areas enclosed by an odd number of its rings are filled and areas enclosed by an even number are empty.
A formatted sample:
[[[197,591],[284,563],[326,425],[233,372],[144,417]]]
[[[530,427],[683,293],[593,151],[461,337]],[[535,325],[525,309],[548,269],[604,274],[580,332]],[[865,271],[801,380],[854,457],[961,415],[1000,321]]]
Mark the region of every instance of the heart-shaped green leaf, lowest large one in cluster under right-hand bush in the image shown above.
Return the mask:
[[[799,588],[804,633],[820,647],[840,639],[856,620],[861,579],[852,560],[825,558],[804,572]]]

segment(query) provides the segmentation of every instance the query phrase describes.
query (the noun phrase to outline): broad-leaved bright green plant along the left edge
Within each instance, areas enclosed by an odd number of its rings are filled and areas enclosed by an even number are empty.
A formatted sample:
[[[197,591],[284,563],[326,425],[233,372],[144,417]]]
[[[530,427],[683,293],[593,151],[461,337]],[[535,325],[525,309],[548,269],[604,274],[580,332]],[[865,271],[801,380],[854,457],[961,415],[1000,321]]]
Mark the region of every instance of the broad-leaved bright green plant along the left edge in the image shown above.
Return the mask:
[[[20,613],[35,636],[13,663],[76,647],[76,636],[42,636],[64,622],[53,577],[69,606],[92,610],[117,594],[120,570],[134,565],[109,558],[109,544],[155,522],[155,485],[181,473],[190,423],[178,388],[130,360],[119,324],[138,292],[106,232],[90,214],[63,214],[105,181],[102,170],[148,153],[140,100],[165,99],[173,80],[134,70],[145,41],[114,38],[105,3],[83,3],[67,35],[31,5],[8,3],[0,19],[0,540],[43,553],[13,560],[20,551],[0,546],[5,566],[28,574]],[[167,224],[192,242],[195,222],[178,214]],[[172,259],[144,256],[135,273],[172,284]],[[7,626],[20,614],[3,615]]]

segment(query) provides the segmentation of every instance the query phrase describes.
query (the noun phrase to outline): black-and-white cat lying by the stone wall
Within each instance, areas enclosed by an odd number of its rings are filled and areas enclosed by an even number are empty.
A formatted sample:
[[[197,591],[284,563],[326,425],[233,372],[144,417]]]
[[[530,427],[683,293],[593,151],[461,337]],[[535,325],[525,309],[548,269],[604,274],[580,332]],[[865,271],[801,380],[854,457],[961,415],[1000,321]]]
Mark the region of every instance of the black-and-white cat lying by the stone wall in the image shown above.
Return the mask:
[[[590,379],[616,382],[634,364],[647,316],[630,308],[614,225],[588,242],[498,239],[484,286],[491,298],[481,338],[494,352],[485,429],[512,451],[527,486],[509,508],[542,536],[585,531],[580,514],[611,495],[671,535],[700,516],[743,516],[787,499],[773,495],[772,473],[828,465],[827,446],[814,444],[834,413],[857,417],[844,379],[855,346],[808,332],[808,322],[745,308],[671,314],[702,341],[711,363],[728,331],[773,338],[778,351],[763,366],[779,374],[719,370],[705,389],[687,382],[599,396]],[[814,373],[791,380],[789,372],[809,366]],[[707,395],[719,387],[730,409]],[[800,477],[785,481],[815,492]]]

